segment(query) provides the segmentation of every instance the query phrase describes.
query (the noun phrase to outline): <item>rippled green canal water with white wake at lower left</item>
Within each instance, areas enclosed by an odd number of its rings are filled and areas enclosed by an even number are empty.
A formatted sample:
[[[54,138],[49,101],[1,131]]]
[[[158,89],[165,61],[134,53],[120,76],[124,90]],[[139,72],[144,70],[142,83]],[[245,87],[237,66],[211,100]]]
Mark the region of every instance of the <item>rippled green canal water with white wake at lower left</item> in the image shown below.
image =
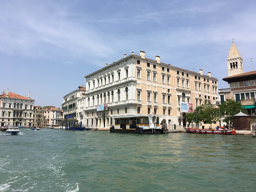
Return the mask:
[[[256,191],[251,135],[0,133],[0,192]]]

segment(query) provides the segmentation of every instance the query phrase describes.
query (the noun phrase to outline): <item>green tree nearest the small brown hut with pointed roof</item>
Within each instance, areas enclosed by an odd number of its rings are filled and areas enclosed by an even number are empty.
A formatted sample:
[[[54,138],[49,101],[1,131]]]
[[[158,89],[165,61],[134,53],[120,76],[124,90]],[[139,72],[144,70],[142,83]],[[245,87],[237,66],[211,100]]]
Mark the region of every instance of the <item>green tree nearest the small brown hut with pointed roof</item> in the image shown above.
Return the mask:
[[[238,114],[240,111],[242,113],[248,114],[247,110],[242,107],[241,103],[238,103],[232,99],[226,99],[225,102],[219,105],[220,114],[225,116],[223,121],[225,123],[233,123],[233,116]]]

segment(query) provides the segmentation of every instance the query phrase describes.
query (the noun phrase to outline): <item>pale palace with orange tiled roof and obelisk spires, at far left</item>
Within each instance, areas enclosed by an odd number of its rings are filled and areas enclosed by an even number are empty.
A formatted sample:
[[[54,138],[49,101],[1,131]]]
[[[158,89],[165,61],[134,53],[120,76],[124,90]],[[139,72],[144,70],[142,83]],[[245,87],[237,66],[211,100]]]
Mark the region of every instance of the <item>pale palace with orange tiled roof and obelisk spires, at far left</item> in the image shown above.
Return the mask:
[[[1,126],[31,127],[33,125],[34,101],[28,96],[24,97],[13,92],[3,91],[0,95]]]

